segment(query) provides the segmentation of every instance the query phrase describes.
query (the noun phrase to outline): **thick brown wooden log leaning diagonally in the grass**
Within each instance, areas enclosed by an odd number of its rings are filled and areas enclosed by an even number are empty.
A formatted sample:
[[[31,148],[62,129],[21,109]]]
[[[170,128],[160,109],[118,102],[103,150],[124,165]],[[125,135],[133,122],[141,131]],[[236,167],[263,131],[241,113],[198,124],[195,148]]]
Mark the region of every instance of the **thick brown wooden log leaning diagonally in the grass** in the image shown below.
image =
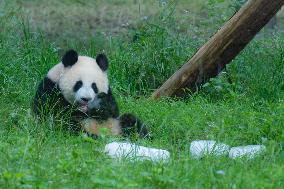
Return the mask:
[[[284,0],[249,0],[152,98],[181,96],[215,77],[280,10]]]

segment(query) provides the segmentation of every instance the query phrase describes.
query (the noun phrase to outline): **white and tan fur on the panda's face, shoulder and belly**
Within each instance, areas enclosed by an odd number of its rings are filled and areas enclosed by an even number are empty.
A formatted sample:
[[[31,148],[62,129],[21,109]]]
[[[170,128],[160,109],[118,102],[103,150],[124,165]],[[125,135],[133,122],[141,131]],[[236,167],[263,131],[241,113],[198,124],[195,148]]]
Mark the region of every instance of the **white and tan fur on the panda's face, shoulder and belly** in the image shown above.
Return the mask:
[[[97,94],[91,87],[92,83],[96,83],[99,92],[108,92],[107,73],[102,71],[95,59],[87,56],[78,56],[78,61],[71,67],[64,67],[62,62],[56,64],[49,70],[47,77],[58,84],[64,98],[71,104],[80,102],[83,97],[94,101]],[[73,87],[77,81],[82,81],[83,86],[74,92]],[[79,106],[79,109],[85,112],[86,106]],[[114,118],[109,118],[103,123],[86,119],[81,122],[81,125],[91,134],[99,135],[101,128],[108,129],[112,135],[121,134],[119,121]]]

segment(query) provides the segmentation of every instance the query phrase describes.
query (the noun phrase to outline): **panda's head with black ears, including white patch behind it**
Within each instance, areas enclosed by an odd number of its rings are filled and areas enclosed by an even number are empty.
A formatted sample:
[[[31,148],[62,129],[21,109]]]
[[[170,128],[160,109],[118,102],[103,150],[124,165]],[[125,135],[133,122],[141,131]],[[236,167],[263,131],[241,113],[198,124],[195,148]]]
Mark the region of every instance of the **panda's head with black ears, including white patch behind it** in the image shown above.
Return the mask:
[[[69,103],[86,112],[88,104],[96,101],[99,93],[108,93],[107,68],[108,60],[104,54],[94,59],[69,50],[47,76],[57,83]]]

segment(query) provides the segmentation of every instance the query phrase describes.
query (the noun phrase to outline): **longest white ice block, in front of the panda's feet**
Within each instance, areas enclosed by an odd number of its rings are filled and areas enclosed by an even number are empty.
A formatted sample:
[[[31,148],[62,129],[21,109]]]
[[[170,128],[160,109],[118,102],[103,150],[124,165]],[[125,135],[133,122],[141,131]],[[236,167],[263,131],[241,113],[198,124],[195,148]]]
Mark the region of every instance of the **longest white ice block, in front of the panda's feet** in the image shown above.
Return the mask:
[[[170,153],[167,150],[147,148],[126,142],[112,142],[105,146],[105,152],[112,158],[130,158],[139,160],[167,162]]]

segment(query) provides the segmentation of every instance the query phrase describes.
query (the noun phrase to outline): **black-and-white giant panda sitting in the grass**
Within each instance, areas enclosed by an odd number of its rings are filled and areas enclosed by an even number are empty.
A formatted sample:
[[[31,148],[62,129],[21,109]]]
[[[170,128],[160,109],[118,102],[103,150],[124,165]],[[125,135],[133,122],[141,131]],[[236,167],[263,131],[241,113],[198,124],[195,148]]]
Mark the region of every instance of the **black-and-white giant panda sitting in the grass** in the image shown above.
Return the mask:
[[[108,59],[78,56],[69,50],[40,82],[34,100],[36,117],[65,120],[72,131],[98,137],[101,128],[111,135],[148,137],[145,125],[132,114],[119,114],[109,86]]]

